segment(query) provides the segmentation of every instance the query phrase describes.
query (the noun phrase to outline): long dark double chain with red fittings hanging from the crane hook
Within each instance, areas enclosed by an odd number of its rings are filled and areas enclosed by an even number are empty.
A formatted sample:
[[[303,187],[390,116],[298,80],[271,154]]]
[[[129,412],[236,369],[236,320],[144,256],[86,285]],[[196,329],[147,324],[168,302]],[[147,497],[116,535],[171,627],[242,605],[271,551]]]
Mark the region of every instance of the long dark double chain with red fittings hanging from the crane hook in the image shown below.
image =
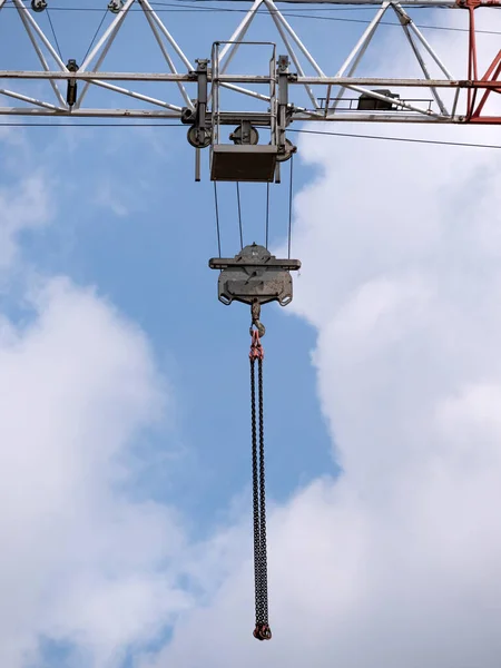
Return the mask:
[[[257,304],[257,307],[256,307]],[[258,326],[261,305],[255,302],[252,307],[253,325]],[[264,330],[264,327],[263,327]],[[266,491],[264,461],[264,402],[263,402],[263,360],[264,350],[259,338],[259,328],[250,326],[250,416],[252,416],[252,461],[253,461],[253,523],[254,523],[254,582],[256,598],[256,627],[254,637],[269,640],[272,630],[268,625],[268,576],[266,556]],[[258,422],[256,419],[256,374],[257,360],[257,402]]]

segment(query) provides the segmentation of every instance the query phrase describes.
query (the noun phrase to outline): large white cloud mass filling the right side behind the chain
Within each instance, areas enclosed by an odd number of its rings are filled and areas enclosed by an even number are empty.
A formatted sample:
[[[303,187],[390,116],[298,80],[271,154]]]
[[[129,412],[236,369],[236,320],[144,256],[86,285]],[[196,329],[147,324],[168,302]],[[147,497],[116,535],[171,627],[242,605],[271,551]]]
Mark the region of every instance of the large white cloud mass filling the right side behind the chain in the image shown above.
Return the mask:
[[[272,642],[250,635],[249,537],[213,603],[145,665],[497,668],[501,156],[325,137],[301,151],[317,175],[296,198],[292,308],[318,331],[344,472],[271,513]]]

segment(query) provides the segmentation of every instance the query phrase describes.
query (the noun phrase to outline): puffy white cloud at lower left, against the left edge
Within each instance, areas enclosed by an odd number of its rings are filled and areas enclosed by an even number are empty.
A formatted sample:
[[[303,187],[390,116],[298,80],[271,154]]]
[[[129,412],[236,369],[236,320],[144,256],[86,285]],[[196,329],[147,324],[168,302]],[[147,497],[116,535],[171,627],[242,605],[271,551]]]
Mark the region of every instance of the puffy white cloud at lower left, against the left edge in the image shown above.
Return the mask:
[[[165,391],[144,336],[91,292],[52,279],[35,308],[0,342],[0,662],[24,666],[42,633],[118,666],[188,601],[177,519],[119,491]]]

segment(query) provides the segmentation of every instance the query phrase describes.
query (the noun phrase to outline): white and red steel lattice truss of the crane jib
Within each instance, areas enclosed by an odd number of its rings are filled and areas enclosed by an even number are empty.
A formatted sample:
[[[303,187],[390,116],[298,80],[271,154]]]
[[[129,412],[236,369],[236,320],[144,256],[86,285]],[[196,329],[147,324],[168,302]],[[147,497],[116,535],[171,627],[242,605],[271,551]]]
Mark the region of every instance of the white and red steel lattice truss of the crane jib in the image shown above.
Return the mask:
[[[0,97],[14,99],[22,106],[0,107],[4,116],[49,116],[80,118],[138,118],[179,119],[190,124],[195,146],[206,146],[214,140],[220,125],[249,121],[272,129],[272,144],[284,143],[285,126],[293,121],[379,121],[379,122],[446,122],[501,124],[501,116],[485,114],[492,92],[501,92],[501,49],[485,72],[479,70],[475,32],[475,11],[480,7],[499,9],[501,0],[302,0],[312,4],[373,4],[375,14],[361,38],[334,73],[321,68],[310,50],[278,9],[279,0],[254,0],[228,41],[215,42],[210,60],[193,63],[169,32],[149,0],[111,0],[109,20],[102,36],[85,60],[63,62],[51,39],[37,20],[51,0],[0,0],[0,21],[16,13],[35,49],[38,71],[0,70],[3,85]],[[295,2],[297,0],[288,0]],[[104,0],[105,7],[107,0]],[[468,72],[455,78],[442,58],[432,48],[409,14],[413,6],[463,9],[469,14]],[[165,72],[107,72],[101,71],[105,59],[120,32],[130,9],[143,10],[157,42]],[[245,41],[258,11],[267,11],[286,58],[275,57],[275,46],[269,45],[273,61],[269,71],[258,75],[238,75],[229,65]],[[421,78],[356,77],[357,68],[387,13],[396,17],[415,57]],[[10,17],[9,17],[10,20]],[[177,63],[177,65],[176,65]],[[200,66],[200,63],[203,63]],[[289,65],[289,67],[288,67]],[[307,73],[310,70],[312,73]],[[440,78],[432,77],[435,71]],[[48,80],[51,98],[40,99],[29,94],[29,84]],[[135,90],[139,82],[170,82],[177,88],[177,100],[166,100]],[[281,84],[281,85],[279,85]],[[266,90],[263,92],[263,85]],[[27,86],[28,89],[22,90]],[[86,107],[89,89],[99,88],[132,98],[135,107],[117,108],[115,104],[101,108]],[[165,86],[158,89],[165,90]],[[252,97],[265,104],[265,110],[225,111],[220,106],[222,89],[240,99]],[[49,89],[48,89],[49,90]],[[303,95],[299,96],[299,90]],[[174,91],[173,91],[174,92]],[[304,95],[305,94],[305,95]],[[202,96],[202,98],[200,98]],[[174,96],[173,96],[174,97]],[[299,97],[304,99],[299,102]],[[106,100],[106,96],[102,98]],[[253,106],[255,107],[255,105]],[[200,119],[200,112],[203,118]],[[283,115],[282,119],[278,118]],[[244,131],[245,128],[242,129]],[[206,135],[210,134],[210,140]]]

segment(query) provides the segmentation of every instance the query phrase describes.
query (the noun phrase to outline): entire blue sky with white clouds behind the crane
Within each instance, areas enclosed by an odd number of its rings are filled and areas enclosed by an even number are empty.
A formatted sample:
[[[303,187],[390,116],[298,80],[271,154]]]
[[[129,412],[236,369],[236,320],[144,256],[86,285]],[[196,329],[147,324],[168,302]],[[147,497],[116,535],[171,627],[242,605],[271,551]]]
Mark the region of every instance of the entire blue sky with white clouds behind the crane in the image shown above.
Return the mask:
[[[101,13],[50,4],[80,58]],[[190,59],[242,16],[185,13],[161,16]],[[327,71],[363,30],[332,13],[291,18]],[[501,17],[477,13],[484,69]],[[130,18],[109,68],[159,69]],[[413,71],[381,30],[361,72]],[[272,35],[263,18],[249,39]],[[2,67],[36,67],[21,37],[6,8]],[[464,33],[426,37],[462,78]],[[501,145],[495,127],[315,129]],[[184,132],[0,126],[0,664],[497,668],[501,153],[291,134],[303,268],[293,304],[263,311],[274,638],[258,644],[248,313],[217,301],[213,186]],[[242,187],[246,243],[265,195]],[[284,179],[277,254],[287,197]],[[234,255],[233,186],[219,198]]]

